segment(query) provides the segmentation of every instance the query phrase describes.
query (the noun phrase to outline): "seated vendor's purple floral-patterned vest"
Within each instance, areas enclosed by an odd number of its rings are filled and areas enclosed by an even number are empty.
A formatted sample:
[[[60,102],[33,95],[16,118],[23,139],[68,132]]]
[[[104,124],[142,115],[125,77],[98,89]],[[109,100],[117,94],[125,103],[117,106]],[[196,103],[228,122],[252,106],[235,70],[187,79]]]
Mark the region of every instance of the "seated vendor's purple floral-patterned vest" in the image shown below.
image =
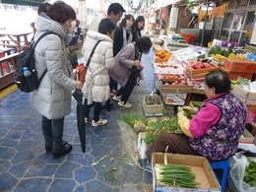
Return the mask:
[[[190,138],[190,146],[210,160],[228,159],[236,152],[238,139],[244,131],[246,106],[232,94],[220,96],[207,103],[215,104],[221,109],[221,119],[202,137]]]

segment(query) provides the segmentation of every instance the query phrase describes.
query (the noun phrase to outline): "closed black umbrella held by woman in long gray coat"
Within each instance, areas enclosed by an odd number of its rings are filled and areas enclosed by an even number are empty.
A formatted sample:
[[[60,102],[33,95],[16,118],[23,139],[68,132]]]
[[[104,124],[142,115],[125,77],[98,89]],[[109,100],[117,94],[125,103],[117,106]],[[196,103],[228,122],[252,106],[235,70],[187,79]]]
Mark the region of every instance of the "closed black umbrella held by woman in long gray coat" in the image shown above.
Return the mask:
[[[79,73],[77,76],[79,80]],[[85,160],[85,153],[86,153],[86,123],[85,123],[85,109],[83,106],[83,93],[81,89],[76,89],[73,93],[74,98],[77,100],[77,124],[78,124],[78,133],[81,142],[82,152],[84,153],[84,160]]]

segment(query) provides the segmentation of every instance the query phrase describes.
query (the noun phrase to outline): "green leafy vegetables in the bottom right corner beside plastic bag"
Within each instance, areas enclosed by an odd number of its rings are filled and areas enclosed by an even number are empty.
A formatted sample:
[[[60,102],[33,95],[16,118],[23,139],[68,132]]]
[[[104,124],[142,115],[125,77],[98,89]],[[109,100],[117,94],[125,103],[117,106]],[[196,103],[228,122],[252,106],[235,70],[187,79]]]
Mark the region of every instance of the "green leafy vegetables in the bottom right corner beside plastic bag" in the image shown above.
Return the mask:
[[[248,160],[249,165],[245,169],[243,181],[248,183],[251,187],[256,187],[256,162]]]

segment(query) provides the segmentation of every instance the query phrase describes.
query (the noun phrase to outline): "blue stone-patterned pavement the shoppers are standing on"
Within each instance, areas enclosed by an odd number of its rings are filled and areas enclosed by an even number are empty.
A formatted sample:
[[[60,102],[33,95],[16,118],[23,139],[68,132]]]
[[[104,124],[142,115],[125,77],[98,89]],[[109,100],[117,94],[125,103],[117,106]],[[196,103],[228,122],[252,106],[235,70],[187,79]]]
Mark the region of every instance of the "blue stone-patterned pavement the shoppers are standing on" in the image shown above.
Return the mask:
[[[142,96],[154,89],[152,52],[144,55],[145,81],[136,86],[122,108],[113,101],[109,122],[104,126],[86,126],[85,160],[80,148],[76,124],[76,101],[65,118],[64,140],[73,151],[59,160],[45,154],[41,116],[32,108],[30,95],[15,92],[0,100],[0,191],[14,192],[149,192],[152,175],[136,166],[137,135],[121,120],[124,113],[140,112]]]

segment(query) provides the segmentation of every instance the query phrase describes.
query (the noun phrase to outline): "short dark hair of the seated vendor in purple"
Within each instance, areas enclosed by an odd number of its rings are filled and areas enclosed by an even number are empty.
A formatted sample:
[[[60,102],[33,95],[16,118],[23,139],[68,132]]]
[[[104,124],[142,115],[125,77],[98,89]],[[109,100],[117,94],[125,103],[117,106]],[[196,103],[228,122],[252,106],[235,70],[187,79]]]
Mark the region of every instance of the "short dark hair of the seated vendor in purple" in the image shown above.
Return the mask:
[[[209,72],[205,77],[205,84],[209,88],[215,88],[215,94],[223,94],[231,89],[227,73],[220,70]]]

